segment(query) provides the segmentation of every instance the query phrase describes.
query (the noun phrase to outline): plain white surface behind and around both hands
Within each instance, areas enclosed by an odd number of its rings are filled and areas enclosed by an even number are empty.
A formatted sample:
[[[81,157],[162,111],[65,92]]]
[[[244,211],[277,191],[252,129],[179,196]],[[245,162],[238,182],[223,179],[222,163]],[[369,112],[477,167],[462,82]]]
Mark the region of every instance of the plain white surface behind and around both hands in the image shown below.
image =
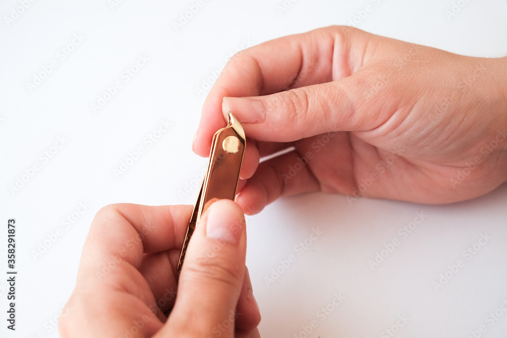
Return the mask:
[[[6,294],[0,289],[2,336],[58,336],[51,320],[74,288],[81,249],[100,207],[194,202],[197,189],[183,197],[178,191],[193,184],[206,163],[190,148],[205,96],[195,88],[245,42],[348,24],[370,4],[373,10],[359,28],[461,54],[507,54],[505,0],[461,0],[466,5],[450,20],[449,0],[292,2],[286,0],[292,5],[280,14],[282,0],[204,1],[178,31],[173,21],[194,1],[124,0],[114,9],[108,0],[36,1],[10,25],[5,16],[20,2],[0,4],[0,210],[4,224],[17,220],[19,271],[18,330],[7,332]],[[75,34],[84,40],[63,59],[59,51]],[[126,82],[122,72],[139,55],[149,61]],[[52,60],[57,67],[30,92],[26,83]],[[122,88],[94,114],[91,103],[116,81]],[[170,129],[153,145],[144,143],[166,120]],[[66,143],[44,162],[40,154],[58,137]],[[139,160],[115,177],[114,169],[139,146]],[[12,194],[9,185],[35,163],[40,170]],[[61,219],[80,202],[88,210],[34,259],[32,250],[62,228]],[[268,206],[247,220],[247,265],[263,316],[261,334],[304,337],[304,326],[316,320],[310,337],[387,337],[384,330],[405,315],[409,320],[395,337],[467,337],[481,324],[487,328],[482,336],[504,337],[507,312],[493,325],[487,316],[507,299],[506,205],[507,185],[445,206],[367,199],[350,205],[343,196],[323,194]],[[399,229],[417,212],[427,217],[401,239]],[[323,234],[299,255],[295,246],[317,228]],[[463,251],[481,234],[491,239],[467,260]],[[368,261],[394,238],[400,245],[372,271]],[[296,260],[267,285],[271,269],[291,254]],[[464,266],[436,291],[432,283],[460,258]],[[319,313],[340,293],[345,299],[335,311]]]

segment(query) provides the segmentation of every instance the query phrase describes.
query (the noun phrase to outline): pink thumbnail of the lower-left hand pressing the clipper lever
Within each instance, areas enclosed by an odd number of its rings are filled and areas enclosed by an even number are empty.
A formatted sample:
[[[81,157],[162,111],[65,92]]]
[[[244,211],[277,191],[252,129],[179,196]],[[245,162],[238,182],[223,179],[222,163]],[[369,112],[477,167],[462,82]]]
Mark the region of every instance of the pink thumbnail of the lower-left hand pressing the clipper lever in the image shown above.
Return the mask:
[[[237,244],[244,224],[243,214],[232,201],[216,201],[208,209],[206,237]]]

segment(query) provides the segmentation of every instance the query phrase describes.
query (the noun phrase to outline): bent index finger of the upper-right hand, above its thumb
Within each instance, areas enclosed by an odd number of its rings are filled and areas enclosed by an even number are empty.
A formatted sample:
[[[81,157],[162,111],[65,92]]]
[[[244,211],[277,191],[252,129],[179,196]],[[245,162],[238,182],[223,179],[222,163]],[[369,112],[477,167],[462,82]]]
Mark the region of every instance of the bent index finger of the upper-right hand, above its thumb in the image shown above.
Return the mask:
[[[347,76],[341,67],[333,70],[333,57],[341,57],[335,50],[342,50],[340,43],[345,40],[337,39],[339,32],[348,29],[328,27],[284,36],[233,56],[206,97],[194,152],[207,156],[214,132],[225,126],[224,97],[268,95]]]

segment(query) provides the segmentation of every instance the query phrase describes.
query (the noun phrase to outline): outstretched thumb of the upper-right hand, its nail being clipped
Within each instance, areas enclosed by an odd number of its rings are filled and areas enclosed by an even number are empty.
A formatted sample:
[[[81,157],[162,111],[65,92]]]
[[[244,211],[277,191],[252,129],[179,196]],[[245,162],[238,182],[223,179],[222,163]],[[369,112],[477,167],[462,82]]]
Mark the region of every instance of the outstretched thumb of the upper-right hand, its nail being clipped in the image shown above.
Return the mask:
[[[373,98],[365,98],[369,81],[357,72],[271,95],[224,97],[222,110],[224,116],[232,111],[248,137],[259,141],[292,142],[326,132],[370,130],[386,117]]]

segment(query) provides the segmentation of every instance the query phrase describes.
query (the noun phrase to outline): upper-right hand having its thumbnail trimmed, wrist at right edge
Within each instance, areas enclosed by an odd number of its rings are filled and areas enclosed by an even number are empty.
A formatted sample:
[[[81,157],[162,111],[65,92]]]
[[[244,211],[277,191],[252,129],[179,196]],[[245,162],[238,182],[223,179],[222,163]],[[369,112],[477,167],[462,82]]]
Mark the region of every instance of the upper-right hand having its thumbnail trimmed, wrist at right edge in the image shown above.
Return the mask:
[[[209,154],[228,110],[251,138],[236,200],[246,213],[313,191],[449,203],[507,179],[507,58],[327,27],[234,56],[206,98],[195,153]]]

